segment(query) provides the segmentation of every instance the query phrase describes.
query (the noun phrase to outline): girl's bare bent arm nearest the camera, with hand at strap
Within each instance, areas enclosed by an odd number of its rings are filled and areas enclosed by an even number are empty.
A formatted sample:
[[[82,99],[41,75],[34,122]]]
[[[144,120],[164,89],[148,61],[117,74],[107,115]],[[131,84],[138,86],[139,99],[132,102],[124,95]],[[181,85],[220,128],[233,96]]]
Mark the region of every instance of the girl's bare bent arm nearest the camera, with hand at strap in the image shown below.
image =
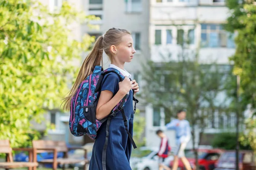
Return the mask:
[[[101,91],[96,108],[96,119],[101,120],[108,116],[112,109],[122,100],[122,98],[124,98],[131,88],[132,82],[128,77],[125,77],[122,82],[119,82],[119,90],[115,96],[113,96],[113,92],[111,91]]]

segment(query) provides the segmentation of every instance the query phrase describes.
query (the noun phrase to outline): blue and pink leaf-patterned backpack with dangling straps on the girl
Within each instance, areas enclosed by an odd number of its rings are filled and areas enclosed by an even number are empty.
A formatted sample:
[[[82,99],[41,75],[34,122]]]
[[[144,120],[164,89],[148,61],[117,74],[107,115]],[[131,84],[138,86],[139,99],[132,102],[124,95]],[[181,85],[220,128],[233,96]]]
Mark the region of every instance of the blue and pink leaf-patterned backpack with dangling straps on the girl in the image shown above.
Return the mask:
[[[119,76],[120,81],[124,79],[124,76],[115,68],[107,68],[103,71],[101,66],[96,66],[93,73],[90,74],[83,82],[81,82],[76,91],[76,94],[71,100],[69,121],[70,132],[74,136],[87,135],[91,139],[95,140],[97,130],[102,125],[102,123],[108,120],[106,127],[106,130],[108,131],[111,117],[116,116],[116,113],[118,111],[121,111],[125,129],[127,129],[126,131],[128,133],[128,136],[131,139],[134,148],[136,148],[132,136],[128,132],[127,118],[123,111],[123,107],[125,106],[129,95],[125,95],[125,97],[113,108],[111,114],[107,118],[100,121],[96,119],[96,107],[101,92],[102,80],[106,74],[111,72],[116,73]],[[135,101],[135,113],[136,103],[138,103],[139,101],[134,97],[133,100]]]

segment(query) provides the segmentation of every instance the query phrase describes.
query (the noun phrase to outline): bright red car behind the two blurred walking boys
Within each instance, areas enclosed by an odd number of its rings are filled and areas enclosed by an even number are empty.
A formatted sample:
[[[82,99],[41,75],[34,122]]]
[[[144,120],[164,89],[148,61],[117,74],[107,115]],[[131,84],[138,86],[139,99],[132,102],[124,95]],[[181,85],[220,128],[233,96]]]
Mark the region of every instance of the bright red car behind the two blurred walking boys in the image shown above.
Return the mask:
[[[198,150],[198,165],[199,170],[214,170],[215,163],[218,161],[221,153],[224,150],[221,149],[199,149]],[[195,155],[193,150],[185,151],[186,158],[188,159],[192,169],[195,169]],[[173,161],[170,162],[170,167],[172,167]],[[178,170],[186,170],[182,161],[179,159]]]

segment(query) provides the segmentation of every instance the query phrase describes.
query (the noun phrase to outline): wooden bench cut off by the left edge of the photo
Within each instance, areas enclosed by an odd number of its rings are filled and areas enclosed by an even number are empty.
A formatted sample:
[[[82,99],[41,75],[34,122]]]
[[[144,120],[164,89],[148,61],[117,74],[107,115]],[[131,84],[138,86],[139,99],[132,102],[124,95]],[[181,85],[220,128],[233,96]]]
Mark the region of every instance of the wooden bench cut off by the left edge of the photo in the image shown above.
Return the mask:
[[[14,162],[12,158],[12,150],[29,152],[29,162]],[[12,168],[28,167],[28,170],[36,170],[38,163],[32,162],[33,149],[32,148],[13,148],[10,146],[9,140],[0,140],[0,153],[6,153],[6,162],[0,162],[0,168],[6,170]]]

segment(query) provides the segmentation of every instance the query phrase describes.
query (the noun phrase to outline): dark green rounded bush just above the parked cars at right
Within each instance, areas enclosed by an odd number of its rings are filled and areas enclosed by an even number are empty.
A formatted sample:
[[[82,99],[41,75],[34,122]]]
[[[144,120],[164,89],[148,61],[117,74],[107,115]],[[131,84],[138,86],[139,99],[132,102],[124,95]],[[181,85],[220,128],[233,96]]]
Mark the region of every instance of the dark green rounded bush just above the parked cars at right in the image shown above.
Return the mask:
[[[242,134],[240,134],[242,135]],[[216,133],[212,141],[212,146],[226,150],[236,149],[236,133]],[[239,142],[241,150],[251,150],[250,145]]]

